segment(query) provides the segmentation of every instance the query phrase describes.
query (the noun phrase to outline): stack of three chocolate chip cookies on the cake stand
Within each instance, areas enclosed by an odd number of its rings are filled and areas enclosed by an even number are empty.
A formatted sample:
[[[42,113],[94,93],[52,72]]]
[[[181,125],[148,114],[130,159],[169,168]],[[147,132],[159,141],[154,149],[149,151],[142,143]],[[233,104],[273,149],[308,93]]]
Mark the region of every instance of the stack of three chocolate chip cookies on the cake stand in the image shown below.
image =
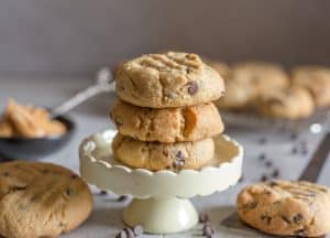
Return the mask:
[[[211,102],[224,93],[220,75],[196,54],[147,54],[117,71],[119,99],[110,117],[121,163],[151,171],[198,170],[215,154],[223,123]]]

